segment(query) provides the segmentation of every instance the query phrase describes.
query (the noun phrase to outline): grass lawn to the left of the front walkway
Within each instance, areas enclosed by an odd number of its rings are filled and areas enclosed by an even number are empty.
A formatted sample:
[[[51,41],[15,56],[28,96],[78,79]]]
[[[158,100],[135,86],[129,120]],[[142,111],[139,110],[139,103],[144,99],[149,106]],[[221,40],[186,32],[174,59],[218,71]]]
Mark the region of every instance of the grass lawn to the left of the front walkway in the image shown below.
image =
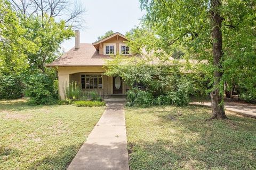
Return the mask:
[[[0,101],[0,169],[66,169],[104,109]]]

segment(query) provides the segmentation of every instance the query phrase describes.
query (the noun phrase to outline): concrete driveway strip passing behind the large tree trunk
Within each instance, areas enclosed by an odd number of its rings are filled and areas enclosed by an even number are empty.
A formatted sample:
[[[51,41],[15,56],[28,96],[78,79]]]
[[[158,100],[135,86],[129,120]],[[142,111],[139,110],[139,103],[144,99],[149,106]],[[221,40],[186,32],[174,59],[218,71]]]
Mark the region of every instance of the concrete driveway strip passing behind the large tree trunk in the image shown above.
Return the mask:
[[[201,106],[211,107],[211,101],[205,102],[191,102],[189,104],[196,104]],[[256,105],[249,103],[242,103],[236,101],[225,101],[225,110],[235,112],[236,114],[256,118]]]

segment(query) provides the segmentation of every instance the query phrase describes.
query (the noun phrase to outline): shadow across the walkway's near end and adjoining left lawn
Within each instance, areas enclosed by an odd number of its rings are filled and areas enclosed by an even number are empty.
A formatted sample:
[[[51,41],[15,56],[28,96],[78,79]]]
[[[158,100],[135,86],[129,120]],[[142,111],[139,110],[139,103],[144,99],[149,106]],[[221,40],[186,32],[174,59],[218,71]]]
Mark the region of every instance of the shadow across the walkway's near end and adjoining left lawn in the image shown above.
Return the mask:
[[[109,145],[85,144],[82,151],[79,147],[70,145],[63,147],[54,156],[48,156],[36,160],[26,169],[126,169],[127,155],[125,143],[111,143]],[[120,148],[123,152],[120,152]],[[49,148],[50,149],[50,148]],[[76,156],[79,159],[72,164],[71,161]]]

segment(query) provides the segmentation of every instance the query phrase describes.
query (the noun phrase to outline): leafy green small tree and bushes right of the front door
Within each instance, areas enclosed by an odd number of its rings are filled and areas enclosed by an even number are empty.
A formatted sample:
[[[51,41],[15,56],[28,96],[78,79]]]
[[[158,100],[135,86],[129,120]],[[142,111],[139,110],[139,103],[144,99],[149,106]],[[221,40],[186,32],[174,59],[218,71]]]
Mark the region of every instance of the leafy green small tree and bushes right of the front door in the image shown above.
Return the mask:
[[[127,92],[128,106],[181,106],[189,101],[189,95],[206,94],[208,79],[203,72],[193,72],[200,69],[200,64],[118,55],[106,63],[105,75],[120,76],[130,87],[140,84],[142,90],[131,88]]]

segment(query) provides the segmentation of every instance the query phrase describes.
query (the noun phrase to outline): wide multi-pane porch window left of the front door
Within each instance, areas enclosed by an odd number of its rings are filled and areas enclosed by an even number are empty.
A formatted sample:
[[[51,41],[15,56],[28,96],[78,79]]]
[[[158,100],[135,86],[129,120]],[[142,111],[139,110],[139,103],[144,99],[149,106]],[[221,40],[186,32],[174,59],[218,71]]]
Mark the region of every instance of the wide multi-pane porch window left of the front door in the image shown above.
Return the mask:
[[[102,75],[81,75],[83,89],[102,88]]]

